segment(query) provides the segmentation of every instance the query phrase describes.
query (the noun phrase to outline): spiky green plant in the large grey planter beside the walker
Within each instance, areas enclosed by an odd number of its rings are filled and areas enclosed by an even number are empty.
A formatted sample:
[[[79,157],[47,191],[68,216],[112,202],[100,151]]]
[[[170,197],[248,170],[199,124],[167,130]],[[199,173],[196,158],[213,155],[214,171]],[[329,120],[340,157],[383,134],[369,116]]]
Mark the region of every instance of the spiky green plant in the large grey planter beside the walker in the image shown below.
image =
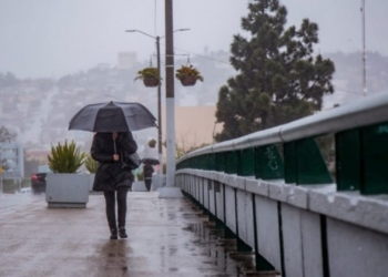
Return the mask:
[[[51,155],[48,156],[49,167],[53,173],[76,173],[84,164],[88,157],[86,153],[76,147],[75,142],[64,142],[62,145],[51,145]]]

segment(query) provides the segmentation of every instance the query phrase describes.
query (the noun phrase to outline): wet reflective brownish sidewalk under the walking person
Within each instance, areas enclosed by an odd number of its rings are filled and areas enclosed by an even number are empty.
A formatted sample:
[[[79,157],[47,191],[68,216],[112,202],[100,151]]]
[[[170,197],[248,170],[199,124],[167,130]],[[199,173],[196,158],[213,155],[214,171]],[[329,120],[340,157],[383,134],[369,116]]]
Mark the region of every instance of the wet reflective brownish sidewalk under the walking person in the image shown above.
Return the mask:
[[[0,209],[0,276],[246,276],[254,268],[254,256],[231,258],[187,198],[130,193],[126,220],[129,238],[110,240],[102,195],[83,209],[47,208],[44,199]]]

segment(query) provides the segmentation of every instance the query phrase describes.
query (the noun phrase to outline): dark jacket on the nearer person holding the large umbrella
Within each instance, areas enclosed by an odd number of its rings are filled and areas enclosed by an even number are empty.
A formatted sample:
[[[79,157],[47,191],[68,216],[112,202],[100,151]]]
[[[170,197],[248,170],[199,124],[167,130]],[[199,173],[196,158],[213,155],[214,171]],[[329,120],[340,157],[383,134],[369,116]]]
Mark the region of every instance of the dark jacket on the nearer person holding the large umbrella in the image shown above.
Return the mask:
[[[118,186],[131,186],[134,179],[130,170],[122,167],[121,161],[113,161],[113,154],[126,151],[129,154],[135,153],[137,144],[133,140],[132,133],[119,133],[115,140],[116,152],[114,152],[114,141],[112,133],[96,133],[93,137],[91,155],[99,162],[95,172],[93,191],[112,192]]]

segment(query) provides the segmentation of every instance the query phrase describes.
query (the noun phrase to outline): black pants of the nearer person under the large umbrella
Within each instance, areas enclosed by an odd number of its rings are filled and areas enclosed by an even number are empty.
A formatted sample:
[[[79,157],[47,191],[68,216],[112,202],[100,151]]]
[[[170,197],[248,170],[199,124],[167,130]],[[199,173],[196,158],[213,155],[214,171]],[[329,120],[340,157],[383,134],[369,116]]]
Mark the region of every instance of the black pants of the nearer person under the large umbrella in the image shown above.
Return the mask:
[[[118,223],[119,227],[125,227],[126,217],[126,194],[129,187],[119,187],[116,192],[104,192],[106,218],[110,229],[116,229],[115,196],[118,195]]]

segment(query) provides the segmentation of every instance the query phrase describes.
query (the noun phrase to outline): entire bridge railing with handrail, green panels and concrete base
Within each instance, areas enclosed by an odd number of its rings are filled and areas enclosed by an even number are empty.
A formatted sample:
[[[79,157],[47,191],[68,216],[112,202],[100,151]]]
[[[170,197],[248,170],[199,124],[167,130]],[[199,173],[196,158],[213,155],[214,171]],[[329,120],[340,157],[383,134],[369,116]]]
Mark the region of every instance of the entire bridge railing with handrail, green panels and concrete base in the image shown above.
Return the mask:
[[[388,94],[208,145],[176,167],[177,186],[255,252],[258,270],[386,276]]]

